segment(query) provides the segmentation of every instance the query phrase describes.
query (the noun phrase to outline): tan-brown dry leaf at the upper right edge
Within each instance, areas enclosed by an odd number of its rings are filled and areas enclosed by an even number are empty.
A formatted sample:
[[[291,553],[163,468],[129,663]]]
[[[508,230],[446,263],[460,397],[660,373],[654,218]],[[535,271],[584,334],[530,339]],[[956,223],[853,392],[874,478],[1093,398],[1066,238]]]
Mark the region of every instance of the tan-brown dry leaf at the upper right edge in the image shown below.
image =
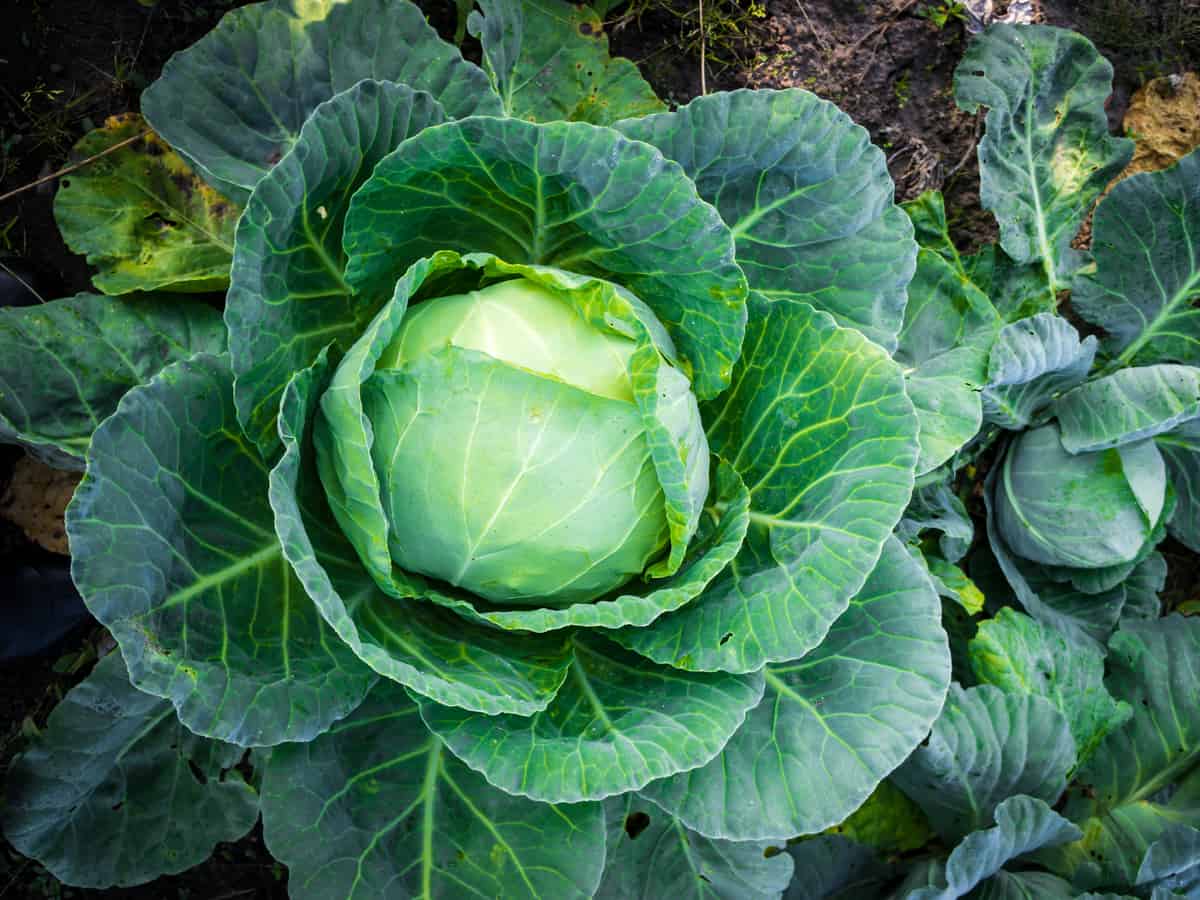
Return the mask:
[[[1200,146],[1200,76],[1195,72],[1147,82],[1126,112],[1126,133],[1136,140],[1133,162],[1122,173],[1165,169]]]

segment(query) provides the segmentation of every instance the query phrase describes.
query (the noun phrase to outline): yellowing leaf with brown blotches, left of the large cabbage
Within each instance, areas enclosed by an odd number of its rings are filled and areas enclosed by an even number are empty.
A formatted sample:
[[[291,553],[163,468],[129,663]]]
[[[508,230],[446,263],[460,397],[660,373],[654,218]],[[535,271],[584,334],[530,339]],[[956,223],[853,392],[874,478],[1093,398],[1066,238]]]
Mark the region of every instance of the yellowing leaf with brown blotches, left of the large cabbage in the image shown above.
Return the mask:
[[[106,294],[223,290],[241,209],[200,181],[142,116],[114,115],[74,145],[106,154],[59,181],[54,220],[62,240],[98,269]]]

